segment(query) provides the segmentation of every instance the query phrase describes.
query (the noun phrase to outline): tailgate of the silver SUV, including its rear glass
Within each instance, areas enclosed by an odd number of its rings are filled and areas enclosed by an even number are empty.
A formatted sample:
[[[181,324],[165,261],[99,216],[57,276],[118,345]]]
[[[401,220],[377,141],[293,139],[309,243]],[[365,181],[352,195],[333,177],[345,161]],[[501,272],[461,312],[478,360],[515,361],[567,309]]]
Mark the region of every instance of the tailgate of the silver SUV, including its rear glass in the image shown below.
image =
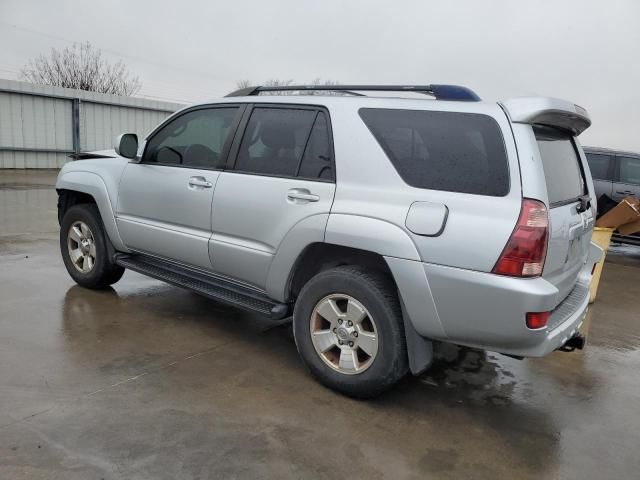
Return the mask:
[[[542,276],[564,298],[588,258],[594,218],[591,208],[581,206],[581,197],[593,193],[588,191],[585,168],[572,135],[550,127],[535,126],[533,130],[549,200],[549,246]]]

